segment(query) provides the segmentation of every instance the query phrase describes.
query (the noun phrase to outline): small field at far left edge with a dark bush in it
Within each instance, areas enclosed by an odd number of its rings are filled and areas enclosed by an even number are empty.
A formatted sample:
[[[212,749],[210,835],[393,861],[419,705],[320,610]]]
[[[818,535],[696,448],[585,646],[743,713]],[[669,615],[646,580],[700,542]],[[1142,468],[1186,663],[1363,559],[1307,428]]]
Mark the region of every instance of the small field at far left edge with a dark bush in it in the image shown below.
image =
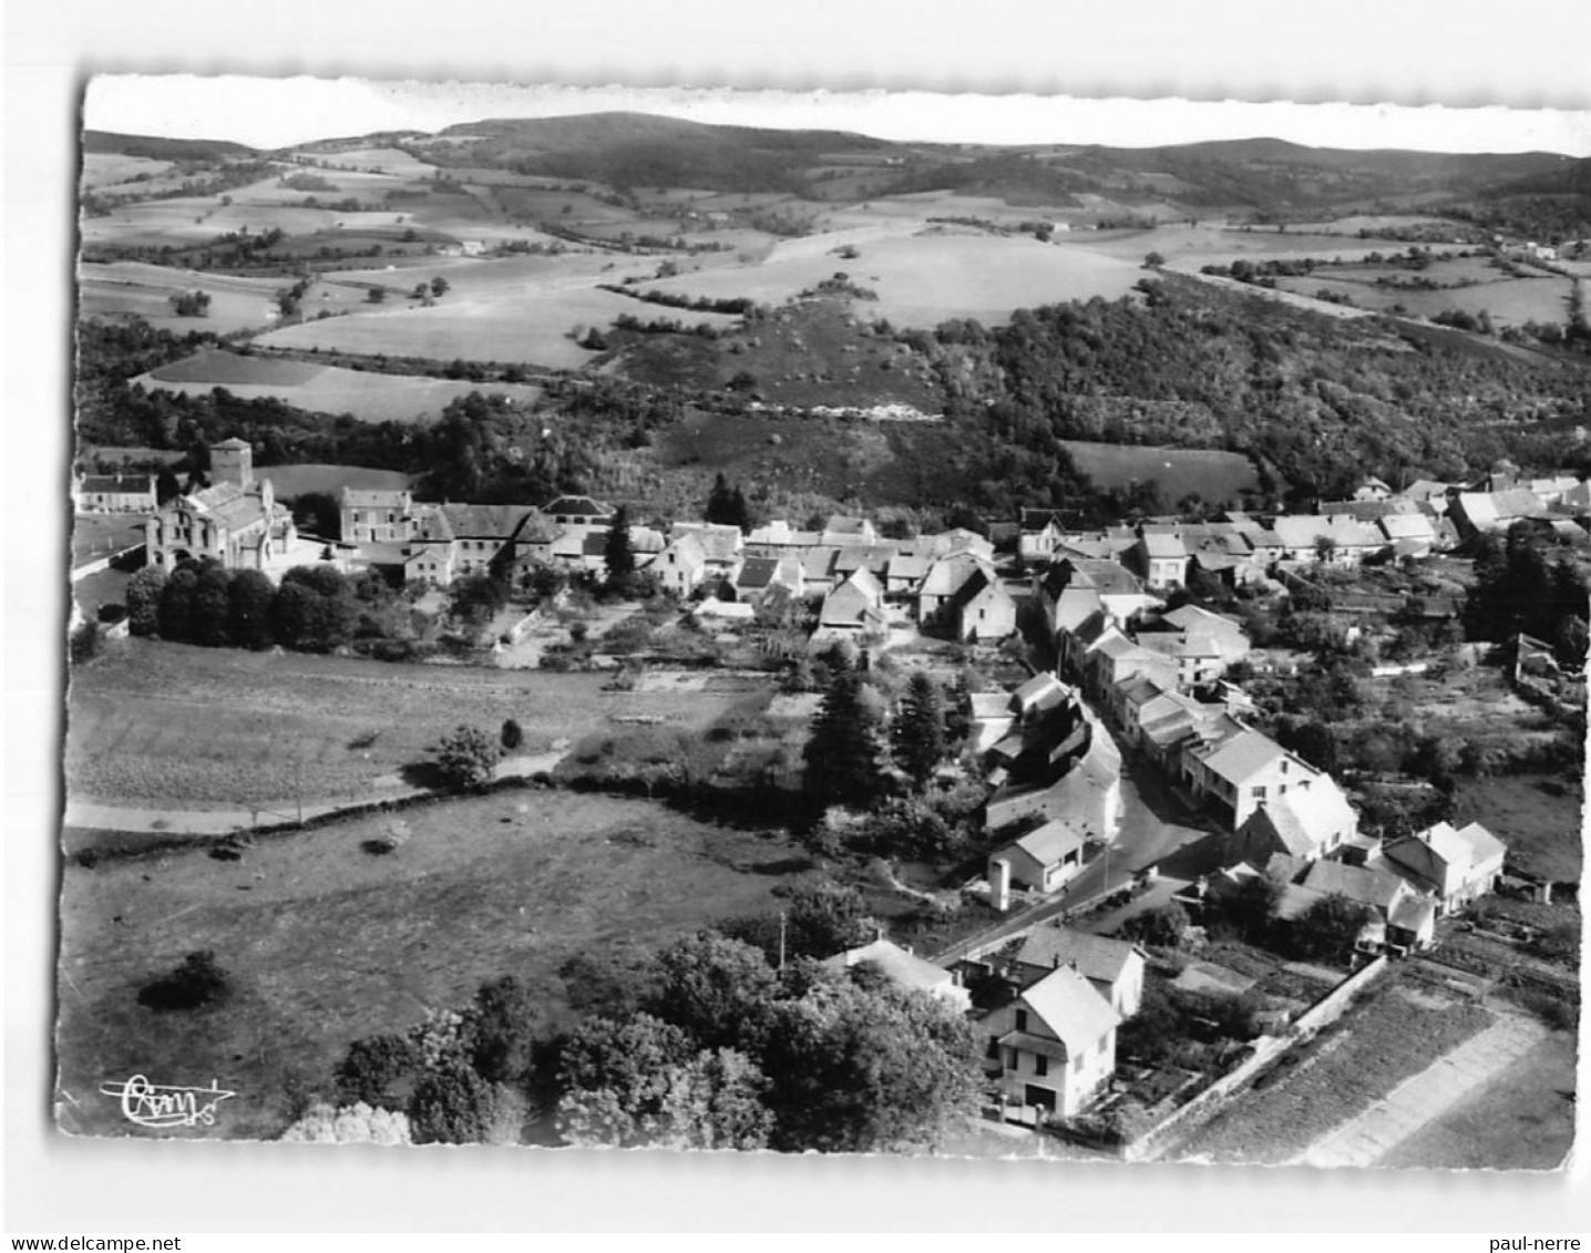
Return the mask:
[[[146,266],[142,261],[84,262],[78,267],[78,313],[83,318],[145,318],[177,334],[231,334],[267,328],[277,320],[282,278],[235,278],[221,273]],[[172,297],[188,291],[210,296],[202,318],[180,318]]]

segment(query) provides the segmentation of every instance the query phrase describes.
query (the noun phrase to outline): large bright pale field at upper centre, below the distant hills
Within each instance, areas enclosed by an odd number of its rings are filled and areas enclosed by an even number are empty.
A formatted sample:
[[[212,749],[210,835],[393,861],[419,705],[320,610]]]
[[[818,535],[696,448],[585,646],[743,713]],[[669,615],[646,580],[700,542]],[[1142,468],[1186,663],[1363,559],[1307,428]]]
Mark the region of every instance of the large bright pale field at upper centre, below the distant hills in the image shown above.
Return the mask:
[[[854,259],[832,253],[851,243]],[[1142,277],[1136,266],[1029,237],[923,232],[864,237],[816,235],[781,243],[754,266],[725,266],[657,283],[681,296],[745,296],[783,304],[834,273],[877,293],[858,301],[858,316],[932,328],[950,318],[1004,323],[1023,307],[1117,299]]]

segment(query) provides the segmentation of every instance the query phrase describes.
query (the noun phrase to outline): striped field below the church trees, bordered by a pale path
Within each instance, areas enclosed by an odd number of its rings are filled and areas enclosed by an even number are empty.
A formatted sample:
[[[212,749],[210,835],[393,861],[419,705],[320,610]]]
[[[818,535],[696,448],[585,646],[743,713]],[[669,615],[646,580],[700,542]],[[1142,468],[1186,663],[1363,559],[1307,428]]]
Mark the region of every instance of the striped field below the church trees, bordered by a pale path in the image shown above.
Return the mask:
[[[67,790],[135,808],[242,809],[358,798],[372,779],[431,758],[468,722],[509,717],[538,754],[655,716],[702,727],[745,690],[605,693],[597,674],[414,666],[129,641],[73,671]]]

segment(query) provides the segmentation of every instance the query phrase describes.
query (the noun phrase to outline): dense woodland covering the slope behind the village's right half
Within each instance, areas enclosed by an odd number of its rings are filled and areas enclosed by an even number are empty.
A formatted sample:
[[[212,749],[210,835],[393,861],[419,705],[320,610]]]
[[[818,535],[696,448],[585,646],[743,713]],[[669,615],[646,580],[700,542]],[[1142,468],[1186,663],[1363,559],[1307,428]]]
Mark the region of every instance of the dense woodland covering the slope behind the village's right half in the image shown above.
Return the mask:
[[[951,423],[932,434],[942,453],[959,445],[966,499],[1002,510],[1050,499],[1058,439],[1230,448],[1298,495],[1341,499],[1367,463],[1453,477],[1510,453],[1554,464],[1561,440],[1537,423],[1591,417],[1572,366],[1370,320],[1271,305],[1255,316],[1249,297],[1179,275],[1142,286],[1142,301],[943,328],[932,359]]]

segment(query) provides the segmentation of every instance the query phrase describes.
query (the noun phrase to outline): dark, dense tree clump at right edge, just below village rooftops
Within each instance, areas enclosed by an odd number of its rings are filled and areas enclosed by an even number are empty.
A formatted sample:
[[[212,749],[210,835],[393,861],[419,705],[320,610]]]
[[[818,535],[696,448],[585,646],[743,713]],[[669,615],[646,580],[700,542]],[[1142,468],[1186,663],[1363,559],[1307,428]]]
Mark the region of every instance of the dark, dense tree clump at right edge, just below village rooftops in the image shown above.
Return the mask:
[[[1591,577],[1569,549],[1529,522],[1505,537],[1475,542],[1475,585],[1464,611],[1472,639],[1505,641],[1524,631],[1551,644],[1562,666],[1578,669],[1586,655]]]

